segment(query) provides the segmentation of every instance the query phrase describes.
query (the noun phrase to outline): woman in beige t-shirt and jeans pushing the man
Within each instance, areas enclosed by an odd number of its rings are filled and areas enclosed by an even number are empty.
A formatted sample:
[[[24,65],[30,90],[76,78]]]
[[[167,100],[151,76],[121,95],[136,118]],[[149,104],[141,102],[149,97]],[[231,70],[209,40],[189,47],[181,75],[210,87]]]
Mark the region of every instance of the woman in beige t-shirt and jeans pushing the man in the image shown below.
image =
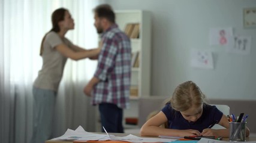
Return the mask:
[[[74,20],[68,10],[55,10],[52,14],[52,29],[41,42],[43,67],[33,87],[34,131],[31,142],[41,143],[52,138],[53,110],[67,58],[80,60],[95,57],[100,53],[100,48],[85,50],[73,45],[65,38],[65,34],[71,29],[74,29]]]

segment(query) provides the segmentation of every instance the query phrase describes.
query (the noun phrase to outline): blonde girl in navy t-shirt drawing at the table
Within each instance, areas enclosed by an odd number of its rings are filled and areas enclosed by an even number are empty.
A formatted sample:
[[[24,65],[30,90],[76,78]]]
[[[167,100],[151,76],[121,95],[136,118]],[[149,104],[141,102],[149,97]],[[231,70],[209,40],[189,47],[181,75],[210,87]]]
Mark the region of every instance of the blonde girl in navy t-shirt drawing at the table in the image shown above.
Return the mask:
[[[205,96],[191,81],[177,86],[171,100],[140,129],[141,136],[229,136],[227,116],[214,105],[204,102]],[[168,123],[169,129],[160,128]],[[210,129],[217,122],[226,129]],[[249,129],[246,128],[246,136]]]

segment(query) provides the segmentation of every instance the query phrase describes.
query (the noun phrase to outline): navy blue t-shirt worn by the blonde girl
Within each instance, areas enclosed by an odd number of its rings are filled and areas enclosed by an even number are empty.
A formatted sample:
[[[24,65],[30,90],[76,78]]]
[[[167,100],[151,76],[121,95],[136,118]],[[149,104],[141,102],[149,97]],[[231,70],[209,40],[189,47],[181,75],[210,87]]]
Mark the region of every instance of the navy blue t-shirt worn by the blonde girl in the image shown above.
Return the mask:
[[[162,112],[168,119],[169,129],[194,129],[202,132],[203,129],[208,128],[216,120],[221,120],[223,113],[216,108],[215,105],[203,104],[203,113],[196,122],[188,122],[184,119],[179,111],[171,108],[171,104],[168,103],[162,108]]]

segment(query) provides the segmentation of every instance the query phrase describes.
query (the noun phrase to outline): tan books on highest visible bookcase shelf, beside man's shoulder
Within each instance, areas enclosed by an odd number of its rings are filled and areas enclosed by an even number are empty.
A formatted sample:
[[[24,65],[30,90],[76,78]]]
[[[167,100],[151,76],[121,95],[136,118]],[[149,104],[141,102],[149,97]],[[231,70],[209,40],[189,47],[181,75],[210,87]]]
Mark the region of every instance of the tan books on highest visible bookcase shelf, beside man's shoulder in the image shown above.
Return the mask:
[[[128,23],[125,26],[125,30],[124,30],[125,34],[129,38],[138,38],[139,31],[140,31],[140,24],[139,23]]]

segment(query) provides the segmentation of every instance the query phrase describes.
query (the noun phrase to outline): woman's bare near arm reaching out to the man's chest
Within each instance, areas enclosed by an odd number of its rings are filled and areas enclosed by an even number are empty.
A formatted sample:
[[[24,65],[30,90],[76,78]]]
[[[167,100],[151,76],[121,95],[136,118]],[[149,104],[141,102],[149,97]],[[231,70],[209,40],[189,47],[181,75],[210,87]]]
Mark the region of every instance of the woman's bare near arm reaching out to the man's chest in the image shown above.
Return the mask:
[[[65,57],[71,58],[72,60],[80,60],[83,58],[95,57],[100,53],[100,48],[92,49],[90,51],[74,51],[73,49],[68,48],[64,43],[55,47],[57,51],[61,52]],[[82,49],[82,48],[81,48]]]

